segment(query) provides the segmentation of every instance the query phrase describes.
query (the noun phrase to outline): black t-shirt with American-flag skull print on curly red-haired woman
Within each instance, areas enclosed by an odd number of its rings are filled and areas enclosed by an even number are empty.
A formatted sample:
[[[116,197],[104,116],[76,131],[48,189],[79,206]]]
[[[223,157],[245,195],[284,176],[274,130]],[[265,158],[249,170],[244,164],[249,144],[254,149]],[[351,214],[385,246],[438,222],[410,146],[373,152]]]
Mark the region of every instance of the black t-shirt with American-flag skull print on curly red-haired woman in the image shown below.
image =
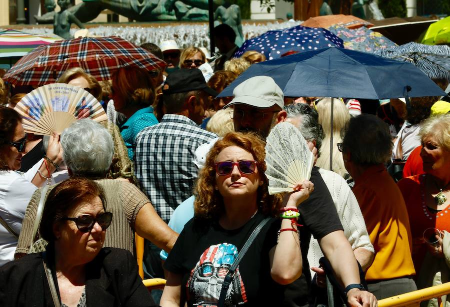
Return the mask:
[[[225,230],[217,222],[191,219],[184,226],[164,268],[180,274],[181,297],[188,306],[216,306],[223,279],[262,213],[235,230]],[[281,286],[270,277],[269,251],[276,245],[279,219],[271,219],[245,253],[228,289],[225,306],[276,306]],[[288,265],[288,264],[286,264]]]

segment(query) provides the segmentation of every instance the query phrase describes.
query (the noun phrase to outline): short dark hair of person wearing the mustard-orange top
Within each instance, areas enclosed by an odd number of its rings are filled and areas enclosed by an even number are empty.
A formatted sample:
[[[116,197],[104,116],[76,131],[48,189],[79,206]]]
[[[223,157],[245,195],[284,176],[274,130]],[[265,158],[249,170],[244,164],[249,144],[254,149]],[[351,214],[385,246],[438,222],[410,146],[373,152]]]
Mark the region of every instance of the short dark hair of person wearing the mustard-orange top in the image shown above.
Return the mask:
[[[350,152],[352,162],[358,165],[387,162],[392,146],[388,126],[372,114],[350,118],[343,131],[342,152]]]

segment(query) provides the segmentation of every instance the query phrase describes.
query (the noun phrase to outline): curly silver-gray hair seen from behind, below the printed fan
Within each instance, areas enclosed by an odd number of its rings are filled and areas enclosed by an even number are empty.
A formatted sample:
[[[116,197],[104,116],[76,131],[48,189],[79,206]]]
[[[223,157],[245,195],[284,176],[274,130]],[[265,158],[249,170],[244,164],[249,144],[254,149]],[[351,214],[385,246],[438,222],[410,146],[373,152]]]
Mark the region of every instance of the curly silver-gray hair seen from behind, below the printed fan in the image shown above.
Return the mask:
[[[75,176],[104,177],[112,162],[114,143],[108,130],[91,119],[80,119],[61,134],[63,160]]]

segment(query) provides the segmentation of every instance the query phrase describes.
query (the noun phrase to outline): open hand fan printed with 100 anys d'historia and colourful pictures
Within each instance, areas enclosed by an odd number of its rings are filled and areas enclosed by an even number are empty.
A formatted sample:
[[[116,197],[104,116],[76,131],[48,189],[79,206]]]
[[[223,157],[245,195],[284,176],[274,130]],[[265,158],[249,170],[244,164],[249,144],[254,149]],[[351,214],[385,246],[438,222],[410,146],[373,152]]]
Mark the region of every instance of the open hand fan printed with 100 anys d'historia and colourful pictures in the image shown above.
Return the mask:
[[[24,96],[14,110],[22,117],[25,132],[39,135],[61,133],[81,118],[96,122],[107,120],[103,107],[90,93],[65,83],[36,88]]]

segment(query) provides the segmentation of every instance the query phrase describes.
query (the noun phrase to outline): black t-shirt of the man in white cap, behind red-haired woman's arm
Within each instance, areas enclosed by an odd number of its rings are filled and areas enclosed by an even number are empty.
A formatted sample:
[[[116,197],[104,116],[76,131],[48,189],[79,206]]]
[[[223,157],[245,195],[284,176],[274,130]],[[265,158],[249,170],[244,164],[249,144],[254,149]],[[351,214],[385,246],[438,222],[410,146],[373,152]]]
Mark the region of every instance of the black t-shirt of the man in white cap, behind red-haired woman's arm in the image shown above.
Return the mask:
[[[303,225],[299,227],[303,274],[292,284],[283,287],[283,301],[277,306],[300,307],[308,306],[308,302],[312,303],[309,296],[311,274],[307,259],[311,234],[318,240],[333,231],[343,230],[333,199],[318,168],[312,168],[309,180],[314,184],[314,191],[298,206],[298,224]]]

